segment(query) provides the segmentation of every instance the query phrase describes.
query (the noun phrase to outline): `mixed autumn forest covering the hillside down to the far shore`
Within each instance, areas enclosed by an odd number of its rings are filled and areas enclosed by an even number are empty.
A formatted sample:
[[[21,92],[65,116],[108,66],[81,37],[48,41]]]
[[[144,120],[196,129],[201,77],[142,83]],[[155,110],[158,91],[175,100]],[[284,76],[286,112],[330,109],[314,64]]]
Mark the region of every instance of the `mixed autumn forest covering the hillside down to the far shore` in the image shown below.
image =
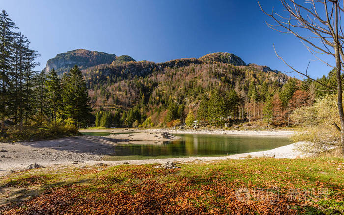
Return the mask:
[[[141,61],[83,70],[94,125],[172,127],[192,115],[203,126],[256,120],[268,127],[290,126],[295,123],[290,117],[295,109],[329,94],[316,90],[323,87],[318,82],[335,84],[334,71],[316,82],[255,64],[180,61],[184,63],[174,67]]]

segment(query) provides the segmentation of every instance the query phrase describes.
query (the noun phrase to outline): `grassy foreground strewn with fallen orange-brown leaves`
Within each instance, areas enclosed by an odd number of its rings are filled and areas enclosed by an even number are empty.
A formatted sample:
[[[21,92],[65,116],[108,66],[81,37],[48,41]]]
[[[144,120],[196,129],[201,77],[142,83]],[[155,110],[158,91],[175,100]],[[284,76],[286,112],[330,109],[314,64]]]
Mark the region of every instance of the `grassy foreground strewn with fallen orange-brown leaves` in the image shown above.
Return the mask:
[[[0,214],[343,214],[344,160],[42,168],[0,179]]]

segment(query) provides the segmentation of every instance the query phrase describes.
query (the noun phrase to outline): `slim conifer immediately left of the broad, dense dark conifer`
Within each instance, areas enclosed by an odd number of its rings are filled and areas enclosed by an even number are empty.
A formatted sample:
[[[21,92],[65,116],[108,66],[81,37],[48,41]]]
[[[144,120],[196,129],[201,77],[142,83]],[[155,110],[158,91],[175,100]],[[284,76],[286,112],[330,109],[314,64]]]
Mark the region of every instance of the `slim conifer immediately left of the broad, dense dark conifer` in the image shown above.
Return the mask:
[[[56,113],[62,110],[62,91],[61,91],[61,81],[57,76],[55,69],[52,69],[48,73],[47,81],[45,86],[48,90],[48,101],[51,104],[51,111],[54,122],[56,123]]]

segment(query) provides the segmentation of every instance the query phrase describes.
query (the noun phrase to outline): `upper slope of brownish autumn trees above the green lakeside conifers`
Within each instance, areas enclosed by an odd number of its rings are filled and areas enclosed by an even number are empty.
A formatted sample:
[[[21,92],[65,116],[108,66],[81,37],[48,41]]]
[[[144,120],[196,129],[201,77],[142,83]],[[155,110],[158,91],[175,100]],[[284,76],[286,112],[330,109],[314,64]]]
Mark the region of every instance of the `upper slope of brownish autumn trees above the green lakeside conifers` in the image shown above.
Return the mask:
[[[258,93],[265,94],[263,91],[267,88],[276,91],[290,78],[267,66],[246,65],[239,57],[228,53],[163,63],[98,65],[84,70],[83,74],[95,108],[130,108],[143,102],[144,97],[144,103],[149,104],[146,108],[150,110],[165,106],[170,96],[179,104],[197,107],[201,96],[209,95],[213,89],[221,92],[235,89],[246,97],[252,83]],[[264,82],[267,88],[261,89]]]

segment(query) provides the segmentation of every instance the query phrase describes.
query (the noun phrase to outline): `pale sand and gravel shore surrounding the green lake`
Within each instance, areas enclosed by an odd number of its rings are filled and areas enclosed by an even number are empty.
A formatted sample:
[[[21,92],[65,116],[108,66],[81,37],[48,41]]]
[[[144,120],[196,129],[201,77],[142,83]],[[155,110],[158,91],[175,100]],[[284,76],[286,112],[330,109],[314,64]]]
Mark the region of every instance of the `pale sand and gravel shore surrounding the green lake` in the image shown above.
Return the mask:
[[[90,130],[86,130],[90,132]],[[94,130],[91,130],[94,131]],[[104,131],[104,130],[96,130]],[[108,131],[108,130],[107,130]],[[120,165],[124,162],[130,164],[149,164],[167,161],[173,162],[206,162],[223,159],[242,159],[253,157],[274,157],[274,158],[298,158],[307,156],[302,154],[295,147],[296,143],[282,146],[276,149],[236,154],[222,157],[188,157],[188,158],[167,158],[167,159],[147,159],[147,160],[128,160],[128,161],[102,161],[102,157],[115,152],[115,146],[118,143],[149,143],[154,144],[162,141],[172,140],[175,137],[171,134],[163,136],[162,132],[170,133],[196,133],[196,134],[214,134],[208,131],[175,131],[163,129],[150,130],[112,130],[113,133],[136,132],[130,134],[113,134],[110,136],[78,136],[71,138],[62,138],[57,140],[20,142],[20,143],[1,143],[0,144],[0,175],[8,174],[12,170],[19,171],[27,168],[29,164],[37,163],[46,167],[62,166],[85,166],[105,163],[108,165]],[[94,131],[95,132],[95,131]],[[293,132],[287,131],[217,131],[215,134],[226,135],[256,135],[256,136],[289,136]],[[166,135],[166,134],[165,134]],[[75,162],[77,161],[77,162]],[[74,163],[74,164],[72,164]]]

